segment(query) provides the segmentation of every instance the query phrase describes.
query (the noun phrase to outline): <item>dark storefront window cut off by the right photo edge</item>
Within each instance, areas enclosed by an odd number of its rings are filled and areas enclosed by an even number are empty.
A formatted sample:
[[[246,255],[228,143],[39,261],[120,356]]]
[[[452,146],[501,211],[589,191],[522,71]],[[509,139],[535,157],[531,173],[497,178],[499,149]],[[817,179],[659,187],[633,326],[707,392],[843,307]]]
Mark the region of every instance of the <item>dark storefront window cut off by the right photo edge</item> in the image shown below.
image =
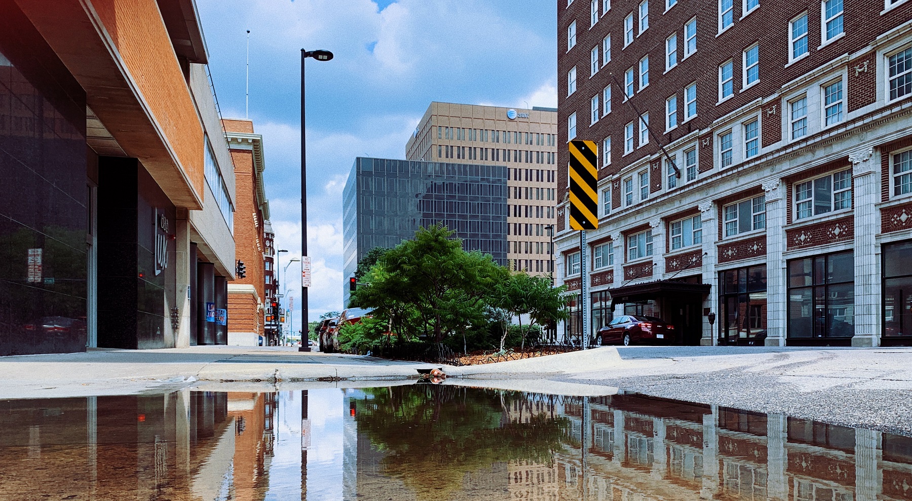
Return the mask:
[[[884,245],[884,337],[912,337],[912,241]]]

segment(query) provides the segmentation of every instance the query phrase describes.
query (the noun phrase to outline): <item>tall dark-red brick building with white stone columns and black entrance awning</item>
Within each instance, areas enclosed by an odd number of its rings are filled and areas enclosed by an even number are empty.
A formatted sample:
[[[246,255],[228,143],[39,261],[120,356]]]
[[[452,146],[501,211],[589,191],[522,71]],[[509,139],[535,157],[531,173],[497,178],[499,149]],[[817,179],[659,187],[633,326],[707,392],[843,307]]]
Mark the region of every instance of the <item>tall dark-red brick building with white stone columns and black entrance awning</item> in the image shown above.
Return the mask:
[[[909,0],[560,0],[560,144],[601,147],[585,332],[638,313],[686,344],[912,343],[910,19]]]

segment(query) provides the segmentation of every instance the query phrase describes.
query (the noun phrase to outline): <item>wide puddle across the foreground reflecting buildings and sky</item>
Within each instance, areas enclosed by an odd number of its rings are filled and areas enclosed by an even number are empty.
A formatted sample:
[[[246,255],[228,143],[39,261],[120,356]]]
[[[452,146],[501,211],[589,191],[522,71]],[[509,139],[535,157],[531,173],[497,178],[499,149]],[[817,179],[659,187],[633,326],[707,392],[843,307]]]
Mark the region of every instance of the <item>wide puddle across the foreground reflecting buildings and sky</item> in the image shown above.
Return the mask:
[[[457,386],[0,402],[0,499],[912,499],[912,438]]]

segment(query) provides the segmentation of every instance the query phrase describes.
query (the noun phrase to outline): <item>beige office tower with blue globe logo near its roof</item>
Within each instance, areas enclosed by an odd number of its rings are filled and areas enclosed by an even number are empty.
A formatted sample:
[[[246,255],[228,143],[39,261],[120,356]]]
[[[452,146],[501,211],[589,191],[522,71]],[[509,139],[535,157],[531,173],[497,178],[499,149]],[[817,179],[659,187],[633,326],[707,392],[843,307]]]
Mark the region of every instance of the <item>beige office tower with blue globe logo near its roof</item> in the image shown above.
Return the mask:
[[[514,270],[553,273],[557,110],[431,102],[406,159],[508,168],[507,259]]]

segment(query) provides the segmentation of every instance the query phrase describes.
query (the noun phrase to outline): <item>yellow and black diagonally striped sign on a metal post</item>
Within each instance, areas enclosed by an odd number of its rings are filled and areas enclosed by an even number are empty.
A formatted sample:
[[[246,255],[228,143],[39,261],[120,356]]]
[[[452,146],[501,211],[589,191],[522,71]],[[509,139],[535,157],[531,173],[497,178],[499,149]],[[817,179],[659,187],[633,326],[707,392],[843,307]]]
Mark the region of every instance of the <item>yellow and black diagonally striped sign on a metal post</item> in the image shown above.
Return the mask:
[[[595,141],[570,141],[570,229],[598,228],[598,147]]]

